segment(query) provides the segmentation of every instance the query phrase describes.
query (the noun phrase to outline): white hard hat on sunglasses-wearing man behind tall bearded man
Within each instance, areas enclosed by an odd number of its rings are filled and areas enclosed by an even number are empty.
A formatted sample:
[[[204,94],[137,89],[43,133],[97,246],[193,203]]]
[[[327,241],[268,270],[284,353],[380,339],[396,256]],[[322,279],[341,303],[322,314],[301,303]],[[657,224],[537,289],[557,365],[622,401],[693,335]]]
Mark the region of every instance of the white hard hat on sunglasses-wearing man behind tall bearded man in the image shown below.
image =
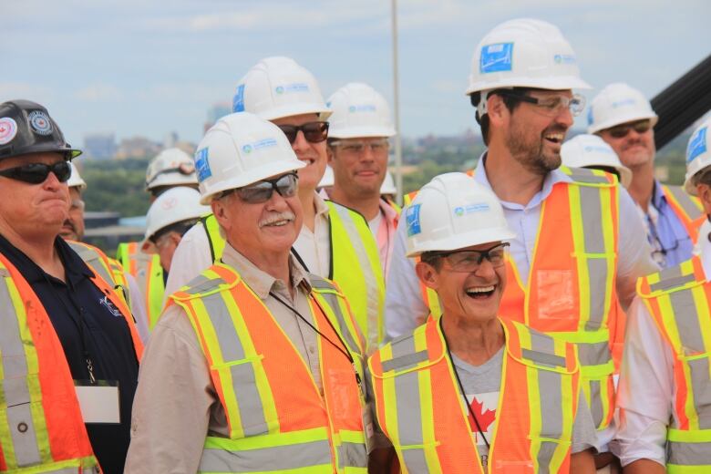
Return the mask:
[[[603,88],[590,103],[588,133],[644,118],[652,120],[652,127],[658,119],[649,100],[639,90],[615,82]]]

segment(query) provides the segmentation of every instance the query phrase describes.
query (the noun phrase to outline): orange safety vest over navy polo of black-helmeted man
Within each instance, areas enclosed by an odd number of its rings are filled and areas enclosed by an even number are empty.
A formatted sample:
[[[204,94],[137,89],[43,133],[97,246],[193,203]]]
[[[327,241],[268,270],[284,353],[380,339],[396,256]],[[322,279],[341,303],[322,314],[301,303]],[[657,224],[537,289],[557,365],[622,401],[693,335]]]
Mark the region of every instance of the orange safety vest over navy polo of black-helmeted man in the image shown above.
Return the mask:
[[[81,245],[106,259],[98,249]],[[126,319],[140,360],[143,345],[127,305],[98,276],[97,267],[88,265],[95,273],[92,282]],[[67,359],[45,307],[2,253],[0,275],[0,307],[5,308],[0,313],[0,472],[98,470]]]

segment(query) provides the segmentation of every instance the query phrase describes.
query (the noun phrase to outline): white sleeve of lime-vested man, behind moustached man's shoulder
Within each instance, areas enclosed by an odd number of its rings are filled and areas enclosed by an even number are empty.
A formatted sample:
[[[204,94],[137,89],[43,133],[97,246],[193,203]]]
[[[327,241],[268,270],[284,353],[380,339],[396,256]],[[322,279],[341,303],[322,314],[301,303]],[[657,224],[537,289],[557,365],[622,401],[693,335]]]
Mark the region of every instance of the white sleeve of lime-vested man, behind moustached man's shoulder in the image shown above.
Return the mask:
[[[211,264],[210,241],[208,241],[207,232],[201,225],[193,225],[191,230],[182,236],[175,253],[173,253],[168,281],[165,283],[163,304],[170,294],[174,294],[185,283],[190,282],[203,270],[210,268]]]

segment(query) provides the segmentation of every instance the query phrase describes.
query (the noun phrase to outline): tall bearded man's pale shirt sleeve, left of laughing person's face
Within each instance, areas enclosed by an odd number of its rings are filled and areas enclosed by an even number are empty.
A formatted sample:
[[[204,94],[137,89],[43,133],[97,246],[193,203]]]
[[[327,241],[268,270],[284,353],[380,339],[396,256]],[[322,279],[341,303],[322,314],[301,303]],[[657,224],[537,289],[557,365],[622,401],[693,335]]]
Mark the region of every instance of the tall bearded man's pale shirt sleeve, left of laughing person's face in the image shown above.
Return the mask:
[[[405,209],[402,214],[405,215]],[[429,308],[422,299],[415,262],[405,256],[407,225],[397,226],[393,256],[386,282],[386,335],[388,339],[412,332],[425,322]]]

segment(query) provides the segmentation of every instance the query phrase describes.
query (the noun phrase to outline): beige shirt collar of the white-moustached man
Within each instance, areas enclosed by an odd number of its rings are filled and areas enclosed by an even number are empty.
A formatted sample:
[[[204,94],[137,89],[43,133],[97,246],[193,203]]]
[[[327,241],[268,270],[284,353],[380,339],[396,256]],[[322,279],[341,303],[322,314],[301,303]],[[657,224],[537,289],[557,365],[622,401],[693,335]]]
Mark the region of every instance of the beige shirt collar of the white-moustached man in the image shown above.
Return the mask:
[[[222,263],[230,265],[237,273],[240,273],[242,280],[247,283],[252,291],[265,300],[269,297],[269,292],[274,291],[279,294],[288,294],[286,284],[282,280],[277,280],[269,273],[264,272],[254,263],[250,262],[242,253],[235,250],[232,245],[226,243],[222,252]],[[311,293],[311,283],[308,274],[295,262],[294,257],[289,255],[289,273],[292,276],[294,288],[301,288],[306,294]],[[291,297],[289,298],[291,299]]]

